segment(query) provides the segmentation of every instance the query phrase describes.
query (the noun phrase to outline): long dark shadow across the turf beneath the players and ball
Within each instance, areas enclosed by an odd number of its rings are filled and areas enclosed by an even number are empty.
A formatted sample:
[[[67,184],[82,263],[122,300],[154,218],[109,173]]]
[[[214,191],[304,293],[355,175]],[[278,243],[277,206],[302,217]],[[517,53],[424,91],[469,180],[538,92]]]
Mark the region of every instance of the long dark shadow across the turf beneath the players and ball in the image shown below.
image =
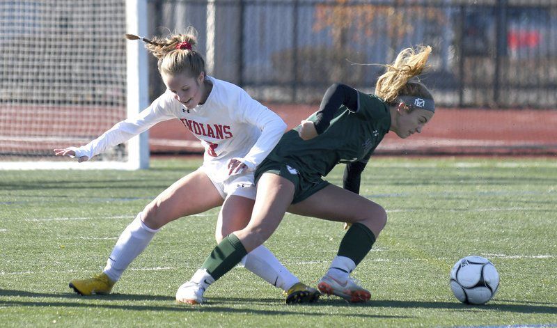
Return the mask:
[[[1,290],[0,297],[31,297],[41,298],[38,300],[22,300],[22,299],[0,299],[1,306],[67,306],[67,307],[104,307],[107,309],[120,309],[132,311],[198,311],[198,312],[231,312],[231,313],[258,313],[258,314],[300,314],[306,315],[322,315],[322,312],[296,311],[296,307],[287,306],[282,299],[278,298],[251,298],[251,297],[210,297],[208,302],[203,306],[188,306],[185,304],[176,304],[174,297],[163,295],[136,295],[136,294],[111,294],[111,295],[93,295],[79,296],[74,293],[46,293],[46,292],[29,292],[26,290]],[[45,298],[56,299],[72,299],[79,302],[45,302]],[[92,302],[84,303],[88,300]],[[102,303],[99,303],[102,301]],[[145,302],[156,301],[165,302],[168,305],[146,305],[142,304],[111,304],[118,301]],[[515,304],[498,304],[499,302],[509,302]],[[401,308],[401,309],[453,309],[455,311],[505,311],[514,313],[557,313],[557,306],[550,303],[537,302],[519,302],[515,300],[498,299],[486,305],[466,305],[458,302],[418,302],[418,301],[398,301],[398,300],[372,300],[366,303],[347,303],[342,299],[322,297],[319,302],[314,304],[304,304],[309,307],[319,306],[335,306],[350,308]],[[522,304],[520,304],[522,303]],[[532,305],[536,304],[536,305]],[[234,306],[244,305],[250,306],[249,309],[234,309]],[[251,306],[281,306],[279,311],[256,310]],[[292,309],[292,311],[288,311]],[[304,308],[307,309],[307,308]],[[347,314],[356,317],[366,318],[411,318],[400,315],[372,315],[351,313]]]

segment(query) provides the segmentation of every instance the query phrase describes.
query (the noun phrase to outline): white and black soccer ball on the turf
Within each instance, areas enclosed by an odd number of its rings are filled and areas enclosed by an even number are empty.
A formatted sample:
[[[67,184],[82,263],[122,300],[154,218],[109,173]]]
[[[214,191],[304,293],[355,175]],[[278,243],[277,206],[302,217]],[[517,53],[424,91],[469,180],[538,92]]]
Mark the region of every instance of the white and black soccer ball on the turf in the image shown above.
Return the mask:
[[[461,258],[450,270],[450,289],[466,304],[485,304],[497,292],[499,273],[481,256]]]

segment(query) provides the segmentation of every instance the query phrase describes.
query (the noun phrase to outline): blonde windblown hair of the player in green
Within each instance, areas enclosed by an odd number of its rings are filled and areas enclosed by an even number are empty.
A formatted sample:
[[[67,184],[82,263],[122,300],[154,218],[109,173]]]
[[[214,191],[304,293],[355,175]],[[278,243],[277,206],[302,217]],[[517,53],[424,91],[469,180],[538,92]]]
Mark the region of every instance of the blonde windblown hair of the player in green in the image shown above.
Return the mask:
[[[433,99],[423,84],[409,82],[412,77],[420,75],[426,68],[431,51],[430,46],[403,49],[391,65],[385,65],[386,72],[377,79],[375,84],[375,94],[389,104],[393,104],[400,95]]]

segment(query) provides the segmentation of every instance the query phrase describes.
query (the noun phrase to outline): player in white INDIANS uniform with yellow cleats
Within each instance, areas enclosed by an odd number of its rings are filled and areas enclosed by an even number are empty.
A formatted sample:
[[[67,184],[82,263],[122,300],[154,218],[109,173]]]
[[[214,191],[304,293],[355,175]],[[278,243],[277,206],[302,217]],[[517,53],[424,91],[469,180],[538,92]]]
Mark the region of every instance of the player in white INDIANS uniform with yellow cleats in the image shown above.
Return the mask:
[[[164,190],[125,228],[107,266],[89,279],[75,279],[70,287],[81,295],[107,294],[128,265],[168,222],[222,206],[215,236],[246,226],[251,217],[256,187],[253,171],[283,135],[279,116],[253,100],[242,88],[205,75],[205,63],[194,50],[196,31],[166,39],[141,39],[158,58],[167,90],[136,118],[123,120],[85,146],[54,149],[58,156],[84,162],[163,120],[178,118],[205,148],[203,165]],[[260,246],[243,260],[244,267],[285,291],[287,303],[314,302],[319,292],[299,282],[267,249]],[[192,279],[190,283],[196,283]],[[199,304],[203,295],[184,295],[178,302]]]

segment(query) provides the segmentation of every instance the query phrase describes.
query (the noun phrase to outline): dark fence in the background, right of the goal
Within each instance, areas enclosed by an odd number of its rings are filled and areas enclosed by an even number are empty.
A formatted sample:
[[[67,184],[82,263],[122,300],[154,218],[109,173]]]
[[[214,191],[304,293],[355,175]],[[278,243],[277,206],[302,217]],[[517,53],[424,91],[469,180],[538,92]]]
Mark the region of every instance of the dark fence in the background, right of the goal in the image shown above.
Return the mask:
[[[210,74],[258,100],[311,103],[337,81],[372,91],[404,47],[431,45],[422,81],[445,107],[557,103],[557,2],[150,0],[150,35],[192,25]],[[209,9],[209,10],[207,10]],[[208,22],[208,23],[207,23]],[[151,96],[163,91],[152,62]]]

